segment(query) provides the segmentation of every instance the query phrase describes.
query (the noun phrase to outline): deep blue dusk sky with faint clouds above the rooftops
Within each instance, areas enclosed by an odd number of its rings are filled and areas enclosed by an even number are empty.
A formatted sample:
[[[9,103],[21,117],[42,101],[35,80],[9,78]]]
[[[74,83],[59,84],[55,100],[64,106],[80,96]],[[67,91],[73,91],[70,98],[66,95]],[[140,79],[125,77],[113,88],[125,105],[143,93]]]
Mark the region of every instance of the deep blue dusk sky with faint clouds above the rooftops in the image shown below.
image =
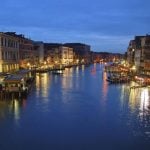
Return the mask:
[[[37,41],[124,53],[135,35],[150,34],[150,0],[3,0],[0,6],[0,31]]]

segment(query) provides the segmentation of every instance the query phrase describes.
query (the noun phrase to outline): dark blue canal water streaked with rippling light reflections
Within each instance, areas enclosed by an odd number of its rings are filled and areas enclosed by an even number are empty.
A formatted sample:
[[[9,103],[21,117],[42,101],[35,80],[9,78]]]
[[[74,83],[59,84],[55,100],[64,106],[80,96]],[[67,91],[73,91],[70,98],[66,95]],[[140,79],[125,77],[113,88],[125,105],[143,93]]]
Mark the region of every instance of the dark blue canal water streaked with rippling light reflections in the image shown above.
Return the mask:
[[[0,101],[0,150],[149,150],[150,88],[109,84],[103,64],[36,75]]]

